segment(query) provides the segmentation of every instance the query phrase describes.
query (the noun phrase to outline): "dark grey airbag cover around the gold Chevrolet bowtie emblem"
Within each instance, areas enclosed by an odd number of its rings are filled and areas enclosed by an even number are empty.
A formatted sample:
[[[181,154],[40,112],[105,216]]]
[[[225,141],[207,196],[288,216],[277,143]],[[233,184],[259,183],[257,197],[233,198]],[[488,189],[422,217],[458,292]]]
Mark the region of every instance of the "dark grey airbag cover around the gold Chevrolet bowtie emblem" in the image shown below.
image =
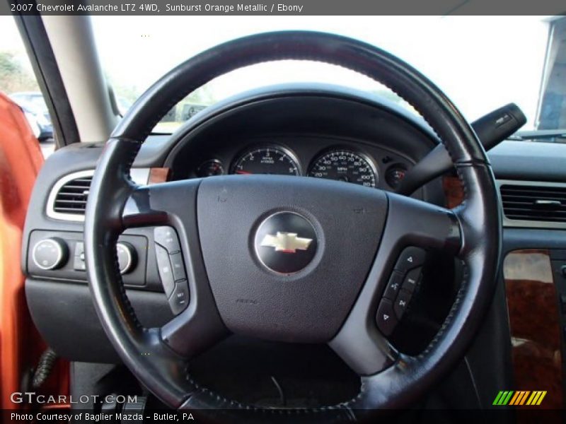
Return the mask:
[[[301,220],[294,231],[291,220],[291,227],[279,230],[291,238],[277,238],[277,228],[272,239],[258,238],[266,218],[281,213],[305,218],[313,232],[301,227]],[[200,242],[226,326],[268,340],[330,340],[369,273],[386,213],[386,194],[356,184],[275,175],[203,179],[197,197]],[[316,240],[308,243],[313,235]],[[262,240],[267,240],[263,250],[275,252],[281,244],[280,250],[296,248],[298,260],[305,252],[313,258],[299,271],[275,272],[258,256]],[[292,252],[277,254],[290,255],[287,262],[293,257]]]

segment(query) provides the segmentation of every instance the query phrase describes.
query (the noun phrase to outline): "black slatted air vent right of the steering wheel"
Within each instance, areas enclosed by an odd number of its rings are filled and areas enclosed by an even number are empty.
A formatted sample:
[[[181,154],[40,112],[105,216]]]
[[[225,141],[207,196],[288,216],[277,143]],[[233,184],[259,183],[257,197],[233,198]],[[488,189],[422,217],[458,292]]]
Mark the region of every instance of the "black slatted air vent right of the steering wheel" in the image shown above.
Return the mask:
[[[566,187],[502,184],[499,191],[509,219],[566,223]]]

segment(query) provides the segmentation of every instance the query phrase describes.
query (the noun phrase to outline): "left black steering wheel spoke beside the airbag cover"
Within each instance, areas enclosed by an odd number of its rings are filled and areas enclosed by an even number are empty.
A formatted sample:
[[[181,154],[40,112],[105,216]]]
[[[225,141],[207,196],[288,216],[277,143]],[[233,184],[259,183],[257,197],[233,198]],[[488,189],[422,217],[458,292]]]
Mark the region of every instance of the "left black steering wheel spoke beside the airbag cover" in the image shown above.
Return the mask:
[[[159,230],[156,230],[154,236],[156,254],[158,249],[165,252],[165,257],[170,258],[170,261],[165,259],[169,268],[175,266],[171,259],[173,257],[182,258],[183,264],[177,265],[185,268],[185,275],[179,281],[173,270],[171,293],[166,289],[166,296],[177,315],[161,328],[154,330],[158,331],[159,338],[171,351],[186,359],[205,351],[227,334],[209,290],[199,242],[195,237],[195,204],[199,184],[199,180],[185,180],[136,187],[122,211],[122,223],[125,228],[150,226],[167,230],[171,227],[177,233],[178,240],[175,243],[178,245],[173,249],[180,249],[178,253],[171,252],[172,248],[167,244],[166,237],[161,240],[158,236]],[[173,236],[173,239],[175,238]],[[177,290],[180,285],[187,287],[183,286],[182,290]],[[178,305],[175,298],[181,295],[182,302],[187,302],[187,307],[178,312],[181,308],[176,309]]]

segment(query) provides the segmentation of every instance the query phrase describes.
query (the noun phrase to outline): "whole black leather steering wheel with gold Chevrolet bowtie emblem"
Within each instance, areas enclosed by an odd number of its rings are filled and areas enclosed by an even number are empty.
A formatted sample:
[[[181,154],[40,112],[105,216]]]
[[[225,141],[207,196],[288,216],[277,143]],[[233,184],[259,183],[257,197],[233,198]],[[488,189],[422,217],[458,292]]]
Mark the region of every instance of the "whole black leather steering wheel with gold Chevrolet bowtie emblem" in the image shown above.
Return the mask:
[[[446,209],[357,184],[275,175],[132,183],[129,170],[141,143],[185,95],[234,69],[281,59],[344,66],[407,100],[449,151],[463,182],[463,204]],[[147,329],[127,300],[115,243],[127,228],[163,225],[178,235],[189,301],[171,322]],[[167,406],[198,409],[205,420],[223,423],[355,420],[408,406],[463,358],[490,305],[501,250],[490,163],[446,95],[381,49],[311,32],[226,42],[151,86],[104,148],[84,231],[96,311],[125,365]],[[395,351],[376,324],[406,247],[451,252],[464,266],[446,322],[416,356]],[[328,343],[360,376],[361,390],[354,399],[317,409],[282,411],[225,399],[195,382],[187,365],[228,334]]]

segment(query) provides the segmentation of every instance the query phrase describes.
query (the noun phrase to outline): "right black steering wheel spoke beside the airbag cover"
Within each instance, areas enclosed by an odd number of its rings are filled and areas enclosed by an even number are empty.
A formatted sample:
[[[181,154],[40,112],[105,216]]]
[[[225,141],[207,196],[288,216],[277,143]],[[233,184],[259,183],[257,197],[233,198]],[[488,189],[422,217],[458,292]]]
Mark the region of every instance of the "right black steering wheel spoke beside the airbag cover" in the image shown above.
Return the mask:
[[[330,347],[359,375],[373,375],[395,363],[398,354],[386,336],[397,322],[394,304],[403,277],[394,281],[391,276],[404,274],[392,270],[399,262],[424,261],[424,257],[417,258],[418,252],[424,252],[422,249],[460,252],[461,233],[456,213],[410,197],[388,194],[388,216],[376,259],[349,317],[330,342]],[[413,251],[417,255],[405,254]],[[388,284],[394,288],[386,291]]]

